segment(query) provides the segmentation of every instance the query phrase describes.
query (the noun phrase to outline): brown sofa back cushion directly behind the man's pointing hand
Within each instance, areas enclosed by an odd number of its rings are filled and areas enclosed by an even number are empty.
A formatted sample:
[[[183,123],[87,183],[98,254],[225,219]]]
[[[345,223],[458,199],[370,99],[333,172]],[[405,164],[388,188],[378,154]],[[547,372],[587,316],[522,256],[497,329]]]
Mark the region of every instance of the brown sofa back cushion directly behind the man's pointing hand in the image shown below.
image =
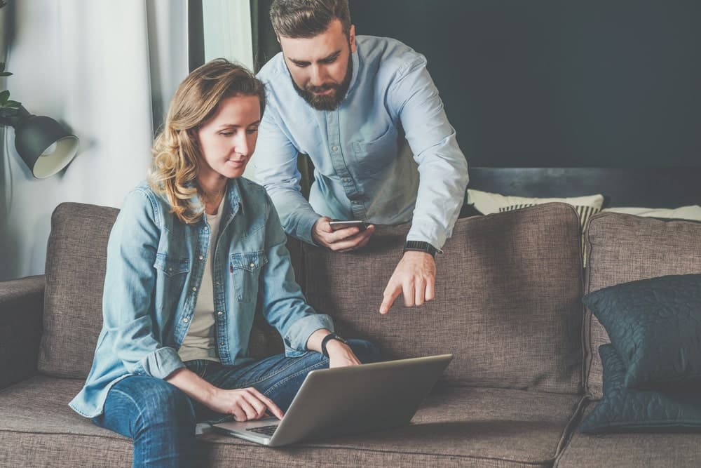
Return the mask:
[[[580,391],[583,281],[571,206],[458,220],[436,258],[435,300],[407,309],[399,297],[383,316],[408,229],[379,227],[350,253],[305,246],[307,300],[386,359],[453,353],[451,385]]]

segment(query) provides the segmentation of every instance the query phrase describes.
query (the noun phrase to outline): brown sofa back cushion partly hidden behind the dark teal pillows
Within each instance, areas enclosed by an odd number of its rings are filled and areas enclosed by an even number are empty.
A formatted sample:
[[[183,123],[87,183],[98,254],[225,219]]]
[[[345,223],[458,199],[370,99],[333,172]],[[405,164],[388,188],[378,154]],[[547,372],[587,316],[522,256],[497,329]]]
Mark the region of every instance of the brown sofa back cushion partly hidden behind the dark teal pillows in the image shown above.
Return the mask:
[[[587,229],[587,250],[587,293],[655,276],[701,273],[701,223],[599,213]],[[584,327],[585,389],[592,399],[600,399],[598,349],[611,340],[588,310]]]

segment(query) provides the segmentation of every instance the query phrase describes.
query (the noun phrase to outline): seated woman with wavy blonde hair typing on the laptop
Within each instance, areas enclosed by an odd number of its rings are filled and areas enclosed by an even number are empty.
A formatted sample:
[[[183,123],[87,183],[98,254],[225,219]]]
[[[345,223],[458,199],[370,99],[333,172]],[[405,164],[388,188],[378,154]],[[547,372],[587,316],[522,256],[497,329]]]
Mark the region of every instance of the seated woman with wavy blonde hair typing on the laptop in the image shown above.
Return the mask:
[[[281,418],[311,370],[376,360],[306,305],[265,189],[241,178],[264,107],[243,67],[214,60],[189,74],[149,182],[111,231],[102,331],[70,405],[131,437],[134,466],[191,464],[196,420]],[[285,354],[249,356],[257,303]]]

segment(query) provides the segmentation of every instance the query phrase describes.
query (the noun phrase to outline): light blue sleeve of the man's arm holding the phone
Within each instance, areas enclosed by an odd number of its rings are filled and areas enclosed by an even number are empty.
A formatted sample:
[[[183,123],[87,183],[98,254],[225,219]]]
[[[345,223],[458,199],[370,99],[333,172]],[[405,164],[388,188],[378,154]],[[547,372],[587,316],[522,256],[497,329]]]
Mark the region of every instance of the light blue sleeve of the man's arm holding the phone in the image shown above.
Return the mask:
[[[258,128],[253,155],[256,177],[273,199],[285,232],[313,244],[312,227],[319,215],[301,194],[297,148],[278,125],[277,116],[275,109],[268,107]]]

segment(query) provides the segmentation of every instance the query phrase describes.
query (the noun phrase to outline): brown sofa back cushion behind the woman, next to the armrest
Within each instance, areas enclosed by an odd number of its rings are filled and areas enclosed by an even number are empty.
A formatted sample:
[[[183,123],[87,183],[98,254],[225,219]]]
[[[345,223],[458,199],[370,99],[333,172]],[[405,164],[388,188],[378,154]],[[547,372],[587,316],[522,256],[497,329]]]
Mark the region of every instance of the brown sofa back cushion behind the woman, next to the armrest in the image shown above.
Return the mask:
[[[83,203],[61,203],[53,212],[46,253],[41,373],[74,378],[88,375],[102,328],[107,241],[118,212]],[[301,255],[299,246],[291,251],[293,258]],[[251,337],[254,356],[280,349],[275,342],[279,335],[259,322]]]

